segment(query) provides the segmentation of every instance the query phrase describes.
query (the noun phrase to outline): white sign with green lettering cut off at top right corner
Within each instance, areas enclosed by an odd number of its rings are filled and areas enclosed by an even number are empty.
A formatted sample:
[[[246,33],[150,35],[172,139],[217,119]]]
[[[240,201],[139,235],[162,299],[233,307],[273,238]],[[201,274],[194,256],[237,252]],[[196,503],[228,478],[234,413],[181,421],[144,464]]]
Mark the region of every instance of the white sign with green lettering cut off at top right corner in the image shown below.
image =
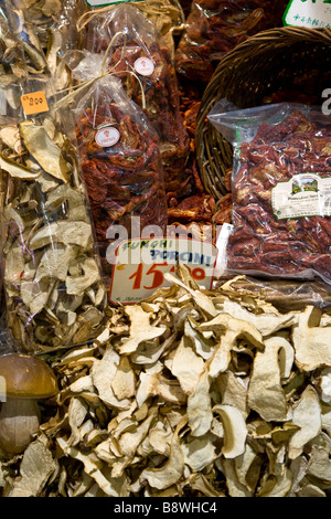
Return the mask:
[[[311,29],[331,28],[331,0],[291,0],[282,22]]]

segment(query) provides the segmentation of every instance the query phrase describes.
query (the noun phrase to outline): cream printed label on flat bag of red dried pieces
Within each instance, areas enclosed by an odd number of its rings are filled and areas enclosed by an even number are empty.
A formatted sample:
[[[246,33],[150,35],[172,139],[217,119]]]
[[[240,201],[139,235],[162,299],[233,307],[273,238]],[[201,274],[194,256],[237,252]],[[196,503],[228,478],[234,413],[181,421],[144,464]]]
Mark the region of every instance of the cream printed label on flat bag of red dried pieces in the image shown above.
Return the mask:
[[[278,220],[331,216],[331,178],[300,173],[278,182],[271,191],[271,206]]]

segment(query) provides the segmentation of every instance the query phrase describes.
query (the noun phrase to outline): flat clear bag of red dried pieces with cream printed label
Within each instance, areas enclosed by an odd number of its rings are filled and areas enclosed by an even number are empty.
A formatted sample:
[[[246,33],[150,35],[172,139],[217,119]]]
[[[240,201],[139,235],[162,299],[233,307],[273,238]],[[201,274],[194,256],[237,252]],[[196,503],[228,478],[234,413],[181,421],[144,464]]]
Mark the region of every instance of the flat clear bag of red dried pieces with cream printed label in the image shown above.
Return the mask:
[[[331,284],[331,120],[274,104],[209,118],[234,145],[227,268]]]

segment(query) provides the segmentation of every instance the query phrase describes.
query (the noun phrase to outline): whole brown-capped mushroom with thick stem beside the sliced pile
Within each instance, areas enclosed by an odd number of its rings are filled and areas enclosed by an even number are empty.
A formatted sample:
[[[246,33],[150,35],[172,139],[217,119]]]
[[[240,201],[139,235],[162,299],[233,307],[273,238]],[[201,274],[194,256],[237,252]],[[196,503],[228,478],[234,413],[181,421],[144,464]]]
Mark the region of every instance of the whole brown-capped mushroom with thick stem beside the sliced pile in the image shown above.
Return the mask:
[[[0,358],[0,375],[6,380],[7,401],[0,412],[0,446],[18,454],[39,430],[38,401],[57,392],[52,369],[40,358],[11,353]]]

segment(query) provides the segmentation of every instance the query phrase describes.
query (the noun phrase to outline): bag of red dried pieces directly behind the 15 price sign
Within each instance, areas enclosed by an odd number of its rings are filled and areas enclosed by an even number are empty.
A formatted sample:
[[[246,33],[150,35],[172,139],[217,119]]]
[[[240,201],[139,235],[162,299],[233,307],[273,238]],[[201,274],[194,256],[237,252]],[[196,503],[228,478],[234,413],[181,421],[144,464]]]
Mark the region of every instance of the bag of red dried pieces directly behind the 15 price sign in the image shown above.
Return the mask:
[[[73,113],[104,279],[109,285],[115,253],[111,244],[121,227],[131,237],[131,216],[139,216],[140,230],[148,225],[166,230],[159,139],[115,76],[96,80]]]

